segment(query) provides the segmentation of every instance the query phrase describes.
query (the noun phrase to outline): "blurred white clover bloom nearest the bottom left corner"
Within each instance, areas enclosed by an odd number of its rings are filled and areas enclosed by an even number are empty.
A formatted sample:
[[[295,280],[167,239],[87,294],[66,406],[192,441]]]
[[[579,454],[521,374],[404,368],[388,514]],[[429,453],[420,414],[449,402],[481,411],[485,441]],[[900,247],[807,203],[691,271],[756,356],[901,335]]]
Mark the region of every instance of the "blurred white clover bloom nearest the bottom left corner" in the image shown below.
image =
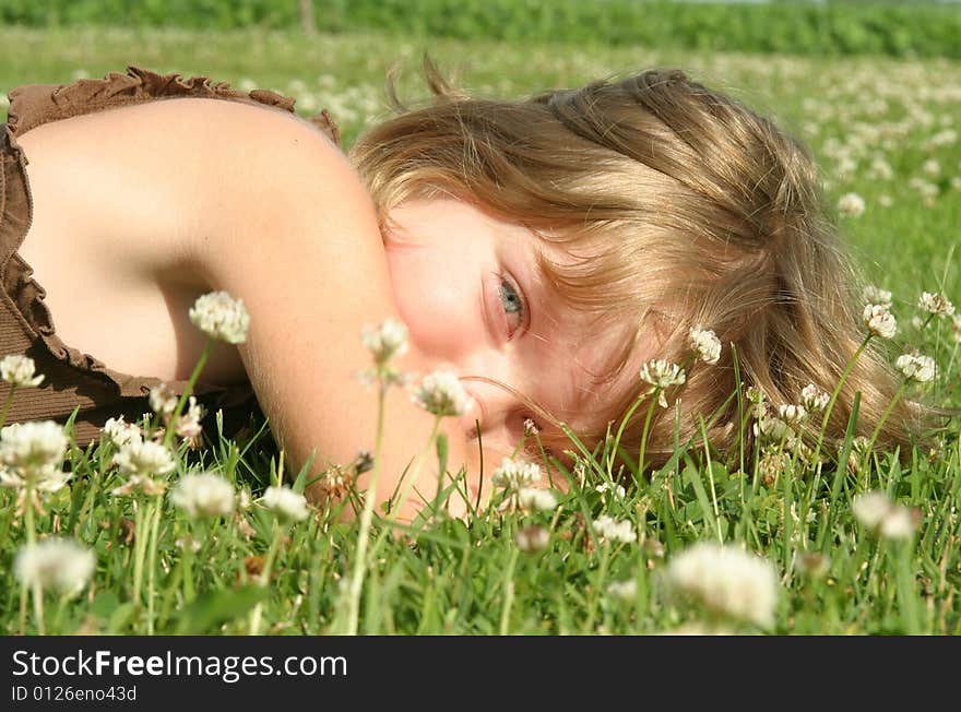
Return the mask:
[[[71,539],[48,538],[27,544],[16,554],[13,573],[28,588],[39,585],[72,596],[94,573],[94,553]]]

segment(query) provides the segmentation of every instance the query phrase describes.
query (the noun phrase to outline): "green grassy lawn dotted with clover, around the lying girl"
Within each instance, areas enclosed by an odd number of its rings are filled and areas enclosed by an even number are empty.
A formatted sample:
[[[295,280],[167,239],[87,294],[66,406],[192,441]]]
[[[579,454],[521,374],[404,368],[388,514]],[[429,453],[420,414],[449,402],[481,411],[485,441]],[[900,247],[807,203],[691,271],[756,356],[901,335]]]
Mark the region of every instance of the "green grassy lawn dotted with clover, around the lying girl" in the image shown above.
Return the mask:
[[[938,376],[925,397],[961,405],[961,324],[951,318],[913,323],[923,316],[923,290],[961,300],[959,62],[415,45],[378,34],[4,28],[0,39],[0,88],[96,78],[128,64],[202,74],[294,96],[302,114],[328,108],[346,144],[383,116],[384,76],[393,64],[402,69],[402,96],[423,96],[416,74],[425,49],[480,95],[522,95],[652,66],[683,67],[807,142],[831,204],[851,192],[864,199],[863,214],[839,214],[838,221],[870,280],[893,295],[900,330],[892,355],[916,346],[935,357]],[[681,448],[649,486],[622,494],[603,464],[585,460],[570,490],[558,493],[556,509],[491,510],[466,523],[428,515],[405,537],[390,536],[375,518],[361,562],[357,630],[961,632],[959,425],[958,418],[949,423],[937,447],[915,451],[906,468],[892,453],[876,452],[850,470],[827,463],[815,471],[793,460],[764,476],[750,463],[744,471],[737,463],[704,464],[698,452]],[[202,465],[195,454],[181,452],[168,478],[173,484],[199,466],[222,473],[252,501],[229,515],[193,521],[169,497],[111,495],[124,478],[110,465],[109,442],[68,452],[74,475],[45,498],[43,514],[17,515],[17,490],[0,490],[0,631],[15,633],[23,620],[27,632],[37,632],[41,620],[47,632],[353,631],[357,601],[346,582],[358,527],[335,523],[327,511],[300,522],[276,520],[259,500],[274,474],[261,444],[265,436],[237,443],[206,435],[212,447],[202,452]],[[853,512],[856,498],[875,490],[893,502],[886,505],[890,521],[904,523],[891,536],[866,524],[864,512]],[[631,535],[603,535],[603,525],[591,525],[603,515],[629,522]],[[530,546],[541,535],[532,527],[546,533],[545,547]],[[78,595],[45,594],[43,612],[34,603],[23,608],[26,597],[12,574],[15,553],[32,531],[75,537],[96,556],[93,581]],[[518,545],[521,531],[529,546]],[[770,618],[724,614],[713,594],[684,582],[681,555],[701,541],[740,545],[763,557],[775,578]],[[719,591],[727,584],[703,585]],[[687,595],[676,595],[678,590]],[[738,595],[750,601],[752,594]]]

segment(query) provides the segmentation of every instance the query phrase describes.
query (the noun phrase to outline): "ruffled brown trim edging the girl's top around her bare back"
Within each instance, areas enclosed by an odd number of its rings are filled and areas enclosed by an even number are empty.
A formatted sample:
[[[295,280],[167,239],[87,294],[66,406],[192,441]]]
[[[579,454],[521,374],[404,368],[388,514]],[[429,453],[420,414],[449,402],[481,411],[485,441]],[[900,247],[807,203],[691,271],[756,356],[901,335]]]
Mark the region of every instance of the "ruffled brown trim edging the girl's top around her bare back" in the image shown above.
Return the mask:
[[[44,302],[46,290],[33,277],[33,269],[16,253],[29,229],[33,198],[26,177],[27,161],[16,137],[50,121],[93,114],[103,109],[142,104],[164,98],[220,98],[294,111],[293,98],[269,90],[241,92],[205,76],[182,79],[179,74],[156,74],[129,67],[127,74],[110,72],[102,80],[83,79],[72,84],[29,84],[10,92],[7,126],[0,132],[0,286],[3,297],[13,301],[24,325],[39,337],[59,360],[82,375],[116,388],[121,397],[141,397],[161,379],[129,376],[107,368],[90,354],[68,346],[57,335],[50,310]],[[327,111],[309,119],[334,144],[340,132]],[[176,391],[187,381],[167,381]],[[249,385],[216,387],[198,383],[198,395],[216,396],[216,404],[229,407],[250,397]]]

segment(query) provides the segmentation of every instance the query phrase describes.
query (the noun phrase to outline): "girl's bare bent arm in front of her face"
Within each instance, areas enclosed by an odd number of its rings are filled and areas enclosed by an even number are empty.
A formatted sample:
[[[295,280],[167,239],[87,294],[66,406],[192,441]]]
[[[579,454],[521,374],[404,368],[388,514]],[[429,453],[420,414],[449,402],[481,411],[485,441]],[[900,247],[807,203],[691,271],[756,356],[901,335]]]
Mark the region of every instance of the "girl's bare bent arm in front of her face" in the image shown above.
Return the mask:
[[[224,210],[199,248],[205,277],[250,312],[241,356],[288,473],[315,448],[312,472],[346,464],[359,448],[372,450],[377,420],[376,389],[358,380],[371,363],[360,331],[398,316],[373,206],[343,154],[306,123],[253,109],[226,122],[222,135],[245,147],[218,158],[215,199]],[[422,375],[429,368],[416,353],[399,365]],[[384,425],[379,500],[427,442],[434,416],[392,389]],[[453,419],[441,427],[450,471],[466,463],[476,480],[476,448]],[[434,493],[436,467],[432,458],[425,463],[418,489]],[[366,486],[361,478],[358,488]]]

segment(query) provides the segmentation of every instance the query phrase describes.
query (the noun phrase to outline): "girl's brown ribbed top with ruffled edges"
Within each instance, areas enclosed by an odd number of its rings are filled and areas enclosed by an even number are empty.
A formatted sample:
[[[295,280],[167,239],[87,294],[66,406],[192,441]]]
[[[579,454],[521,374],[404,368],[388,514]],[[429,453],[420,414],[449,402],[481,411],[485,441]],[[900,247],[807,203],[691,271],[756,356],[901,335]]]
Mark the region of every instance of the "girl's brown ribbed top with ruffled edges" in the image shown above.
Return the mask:
[[[146,395],[161,380],[110,369],[90,354],[64,344],[54,328],[54,316],[44,304],[46,292],[32,278],[33,270],[17,254],[31,226],[33,201],[27,180],[27,159],[16,138],[33,128],[82,114],[92,114],[166,98],[218,98],[294,111],[294,99],[266,90],[240,92],[205,76],[182,79],[129,67],[126,74],[111,72],[102,80],[83,79],[72,84],[29,84],[10,92],[7,123],[0,130],[0,357],[26,354],[45,379],[38,388],[19,388],[5,423],[54,419],[66,423],[79,408],[74,436],[79,444],[99,437],[110,417],[124,415],[137,422],[150,411]],[[327,111],[309,119],[334,143],[336,126]],[[167,381],[180,393],[186,381]],[[257,408],[249,384],[217,387],[199,383],[199,400],[213,415],[224,411],[225,430],[244,425]],[[0,381],[0,403],[10,393]]]

